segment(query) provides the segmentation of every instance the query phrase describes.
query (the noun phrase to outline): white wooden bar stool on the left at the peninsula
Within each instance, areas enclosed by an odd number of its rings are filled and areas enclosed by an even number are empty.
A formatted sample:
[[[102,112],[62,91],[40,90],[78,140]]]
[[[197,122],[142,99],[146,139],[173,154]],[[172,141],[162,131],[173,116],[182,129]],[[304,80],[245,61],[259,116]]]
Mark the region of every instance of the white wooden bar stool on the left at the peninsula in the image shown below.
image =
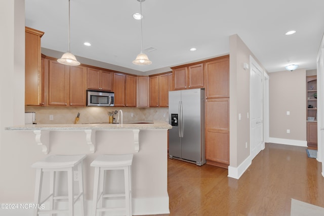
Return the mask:
[[[35,181],[35,195],[34,202],[41,206],[44,202],[49,200],[50,210],[42,210],[42,208],[35,208],[35,216],[41,213],[56,214],[68,213],[69,216],[74,216],[74,203],[79,199],[81,206],[81,215],[84,216],[84,190],[83,190],[83,173],[82,161],[86,157],[83,155],[50,155],[45,159],[35,162],[31,167],[36,168],[36,181]],[[74,175],[73,171],[77,169],[78,172],[78,195],[74,196]],[[43,174],[45,171],[50,172],[50,195],[41,201]],[[57,171],[67,172],[68,195],[55,196],[55,179]],[[68,199],[67,210],[54,209],[54,202],[60,199]]]

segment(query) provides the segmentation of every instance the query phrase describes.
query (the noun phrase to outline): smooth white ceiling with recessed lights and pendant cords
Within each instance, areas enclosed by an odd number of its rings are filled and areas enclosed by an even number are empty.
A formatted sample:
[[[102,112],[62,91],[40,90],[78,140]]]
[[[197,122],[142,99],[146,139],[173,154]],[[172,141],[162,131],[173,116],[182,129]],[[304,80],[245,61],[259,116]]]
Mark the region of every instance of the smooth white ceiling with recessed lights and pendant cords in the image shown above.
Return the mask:
[[[322,0],[146,0],[143,49],[156,50],[144,51],[151,65],[138,66],[132,63],[141,51],[140,21],[132,17],[137,0],[71,0],[70,10],[71,53],[81,63],[92,59],[141,74],[228,54],[233,34],[268,72],[285,70],[288,61],[315,69],[324,32]],[[42,48],[68,50],[68,0],[25,0],[25,13],[26,26],[45,32]],[[285,35],[289,30],[297,32]]]

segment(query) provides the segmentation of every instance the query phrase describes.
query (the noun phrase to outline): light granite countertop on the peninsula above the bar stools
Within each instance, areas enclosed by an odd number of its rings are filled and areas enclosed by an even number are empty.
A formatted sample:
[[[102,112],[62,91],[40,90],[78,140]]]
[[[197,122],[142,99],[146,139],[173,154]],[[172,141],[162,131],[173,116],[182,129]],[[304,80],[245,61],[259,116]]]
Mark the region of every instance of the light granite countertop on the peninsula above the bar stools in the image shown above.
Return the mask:
[[[139,121],[137,121],[139,122]],[[123,124],[109,124],[105,122],[89,124],[25,124],[6,127],[9,131],[77,131],[77,130],[115,130],[115,129],[171,129],[172,126],[166,121],[125,121]]]

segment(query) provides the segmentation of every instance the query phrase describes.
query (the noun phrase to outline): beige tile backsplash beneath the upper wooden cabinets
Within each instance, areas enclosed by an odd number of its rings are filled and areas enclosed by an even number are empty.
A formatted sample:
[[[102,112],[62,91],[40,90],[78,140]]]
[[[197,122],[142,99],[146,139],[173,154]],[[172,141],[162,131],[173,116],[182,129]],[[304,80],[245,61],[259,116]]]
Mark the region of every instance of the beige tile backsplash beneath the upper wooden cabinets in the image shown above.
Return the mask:
[[[167,107],[38,107],[25,106],[25,112],[35,112],[37,124],[73,124],[77,113],[80,113],[79,123],[106,122],[108,113],[123,110],[124,120],[160,120],[169,121]],[[133,114],[133,117],[132,117]],[[50,120],[53,115],[53,120]],[[117,117],[117,116],[116,116]]]

